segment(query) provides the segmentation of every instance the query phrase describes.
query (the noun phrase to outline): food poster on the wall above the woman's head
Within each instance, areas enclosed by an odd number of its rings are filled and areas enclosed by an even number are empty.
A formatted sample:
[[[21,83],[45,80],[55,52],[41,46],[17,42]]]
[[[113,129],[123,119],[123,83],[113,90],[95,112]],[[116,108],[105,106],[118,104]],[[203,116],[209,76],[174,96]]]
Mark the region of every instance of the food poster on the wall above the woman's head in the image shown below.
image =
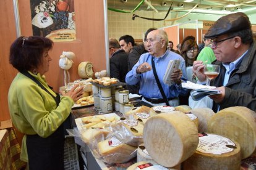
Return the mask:
[[[54,42],[74,41],[74,0],[30,0],[34,36]]]

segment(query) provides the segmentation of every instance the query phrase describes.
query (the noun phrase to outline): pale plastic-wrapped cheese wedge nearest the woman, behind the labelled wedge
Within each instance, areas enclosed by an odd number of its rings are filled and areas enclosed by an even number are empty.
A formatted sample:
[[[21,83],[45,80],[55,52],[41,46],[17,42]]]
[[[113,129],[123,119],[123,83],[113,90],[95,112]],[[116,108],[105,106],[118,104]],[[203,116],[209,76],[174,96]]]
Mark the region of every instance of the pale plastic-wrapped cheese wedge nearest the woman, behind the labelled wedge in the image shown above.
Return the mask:
[[[89,144],[93,144],[94,142],[92,140],[96,141],[102,141],[105,139],[106,136],[108,136],[109,131],[106,129],[86,129],[82,133],[82,140],[83,142]]]

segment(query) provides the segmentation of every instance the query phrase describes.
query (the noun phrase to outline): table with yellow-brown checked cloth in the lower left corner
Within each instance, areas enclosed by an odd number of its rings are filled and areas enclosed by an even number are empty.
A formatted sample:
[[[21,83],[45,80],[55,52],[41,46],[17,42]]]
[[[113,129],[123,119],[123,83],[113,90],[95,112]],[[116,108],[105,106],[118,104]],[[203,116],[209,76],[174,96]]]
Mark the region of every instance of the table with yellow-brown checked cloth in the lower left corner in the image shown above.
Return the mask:
[[[0,169],[21,169],[25,163],[20,161],[20,145],[12,128],[0,130]]]

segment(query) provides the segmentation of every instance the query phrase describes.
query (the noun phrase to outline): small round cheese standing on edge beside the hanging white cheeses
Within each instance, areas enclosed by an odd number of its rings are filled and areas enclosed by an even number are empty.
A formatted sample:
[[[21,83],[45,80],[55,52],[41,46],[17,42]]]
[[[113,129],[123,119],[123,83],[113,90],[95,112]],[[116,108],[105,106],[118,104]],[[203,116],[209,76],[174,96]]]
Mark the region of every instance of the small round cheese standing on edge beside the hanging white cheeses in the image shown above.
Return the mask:
[[[93,76],[93,65],[91,62],[81,62],[78,67],[80,78],[91,78]]]

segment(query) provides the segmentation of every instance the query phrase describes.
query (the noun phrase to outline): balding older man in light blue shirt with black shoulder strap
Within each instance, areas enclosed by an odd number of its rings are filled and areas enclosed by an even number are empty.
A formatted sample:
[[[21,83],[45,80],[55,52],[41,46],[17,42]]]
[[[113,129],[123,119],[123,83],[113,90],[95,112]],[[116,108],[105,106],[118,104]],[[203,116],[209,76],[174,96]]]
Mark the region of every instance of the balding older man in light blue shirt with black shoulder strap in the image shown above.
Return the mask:
[[[179,95],[186,95],[188,90],[181,87],[181,82],[187,80],[187,73],[184,59],[169,50],[168,36],[163,30],[154,30],[148,33],[147,47],[148,53],[140,56],[132,70],[126,75],[126,83],[134,85],[140,82],[139,93],[143,96],[143,101],[151,105],[179,105]],[[171,86],[164,84],[163,78],[170,60],[181,60],[179,68],[175,68],[170,74]],[[163,88],[161,92],[156,77],[153,73],[155,65],[156,75]],[[162,95],[164,94],[164,96]]]

